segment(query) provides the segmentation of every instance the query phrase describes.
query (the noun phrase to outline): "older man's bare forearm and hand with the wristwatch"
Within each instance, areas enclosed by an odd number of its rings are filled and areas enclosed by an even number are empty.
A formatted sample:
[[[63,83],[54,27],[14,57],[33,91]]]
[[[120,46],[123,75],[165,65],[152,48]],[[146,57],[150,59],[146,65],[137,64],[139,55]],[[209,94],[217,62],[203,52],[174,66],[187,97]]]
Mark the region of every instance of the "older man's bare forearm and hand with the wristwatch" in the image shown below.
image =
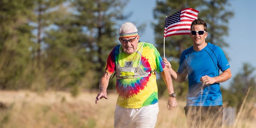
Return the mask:
[[[162,78],[164,79],[164,82],[166,84],[167,90],[169,94],[174,93],[173,85],[172,85],[172,78],[168,72],[168,68],[165,66],[164,71],[161,72]],[[176,101],[175,97],[169,97],[167,108],[168,110],[172,110],[175,106],[177,106],[178,103]]]

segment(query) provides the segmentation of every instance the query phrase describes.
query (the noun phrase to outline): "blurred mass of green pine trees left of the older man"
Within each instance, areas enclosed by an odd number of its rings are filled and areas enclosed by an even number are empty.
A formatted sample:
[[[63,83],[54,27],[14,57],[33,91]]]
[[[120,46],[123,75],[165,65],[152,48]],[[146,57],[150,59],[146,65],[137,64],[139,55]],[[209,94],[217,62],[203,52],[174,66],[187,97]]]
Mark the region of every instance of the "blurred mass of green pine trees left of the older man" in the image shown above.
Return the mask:
[[[0,87],[98,88],[106,58],[118,44],[122,0],[0,1]],[[110,88],[115,87],[114,80]]]

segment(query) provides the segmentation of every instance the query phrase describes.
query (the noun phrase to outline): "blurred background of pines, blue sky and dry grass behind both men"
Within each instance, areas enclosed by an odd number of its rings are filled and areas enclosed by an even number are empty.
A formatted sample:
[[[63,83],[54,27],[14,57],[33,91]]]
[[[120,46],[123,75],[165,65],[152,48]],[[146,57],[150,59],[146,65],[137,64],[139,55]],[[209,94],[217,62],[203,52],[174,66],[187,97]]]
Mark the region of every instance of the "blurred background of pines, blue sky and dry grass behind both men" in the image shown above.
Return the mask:
[[[104,106],[105,101],[94,102],[106,58],[120,44],[120,25],[133,22],[140,40],[154,44],[163,56],[165,17],[184,8],[199,11],[198,18],[208,25],[206,42],[220,46],[230,61],[232,78],[221,83],[230,115],[225,127],[255,126],[255,4],[253,0],[0,0],[0,127],[112,128],[113,118],[98,121],[106,112],[98,109],[108,108],[106,116],[113,116],[115,78],[108,86],[108,94],[114,95],[111,102]],[[190,46],[188,35],[165,39],[165,56],[174,70],[181,52]],[[157,83],[167,110],[166,86],[161,77]],[[174,90],[180,101],[177,115],[184,115],[188,81],[174,82]],[[157,127],[186,127],[184,117],[177,118],[162,120]]]

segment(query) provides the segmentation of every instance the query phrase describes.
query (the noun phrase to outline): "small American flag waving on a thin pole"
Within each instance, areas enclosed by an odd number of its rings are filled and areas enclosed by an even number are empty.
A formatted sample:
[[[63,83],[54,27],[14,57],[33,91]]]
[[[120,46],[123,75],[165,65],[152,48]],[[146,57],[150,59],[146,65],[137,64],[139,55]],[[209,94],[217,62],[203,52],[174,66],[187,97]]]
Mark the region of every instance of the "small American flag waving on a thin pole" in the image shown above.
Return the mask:
[[[185,8],[166,17],[164,37],[190,34],[191,23],[197,19],[198,12],[193,8]]]

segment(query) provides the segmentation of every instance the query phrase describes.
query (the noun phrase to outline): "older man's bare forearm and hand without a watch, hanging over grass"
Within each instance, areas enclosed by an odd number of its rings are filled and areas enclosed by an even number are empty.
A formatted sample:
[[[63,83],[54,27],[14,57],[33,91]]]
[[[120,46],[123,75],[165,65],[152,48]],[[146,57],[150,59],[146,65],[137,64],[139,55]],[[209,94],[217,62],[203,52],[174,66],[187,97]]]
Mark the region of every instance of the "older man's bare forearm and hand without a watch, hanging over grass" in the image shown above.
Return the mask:
[[[96,104],[101,98],[108,99],[107,88],[108,88],[108,82],[109,82],[110,76],[111,74],[109,74],[108,72],[105,72],[102,78],[100,79],[100,85],[99,85],[100,93],[98,93],[98,95],[96,96],[96,101],[95,101]]]

